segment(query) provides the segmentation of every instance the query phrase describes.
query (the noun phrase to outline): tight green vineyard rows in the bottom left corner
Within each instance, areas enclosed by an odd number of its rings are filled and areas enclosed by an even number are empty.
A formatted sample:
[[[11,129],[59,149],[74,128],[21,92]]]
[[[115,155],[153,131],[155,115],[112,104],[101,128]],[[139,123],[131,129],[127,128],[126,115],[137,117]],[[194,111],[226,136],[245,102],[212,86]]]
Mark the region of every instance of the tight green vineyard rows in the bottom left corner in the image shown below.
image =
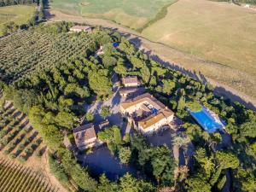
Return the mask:
[[[0,160],[0,191],[56,192],[48,180],[36,172],[9,160]]]

